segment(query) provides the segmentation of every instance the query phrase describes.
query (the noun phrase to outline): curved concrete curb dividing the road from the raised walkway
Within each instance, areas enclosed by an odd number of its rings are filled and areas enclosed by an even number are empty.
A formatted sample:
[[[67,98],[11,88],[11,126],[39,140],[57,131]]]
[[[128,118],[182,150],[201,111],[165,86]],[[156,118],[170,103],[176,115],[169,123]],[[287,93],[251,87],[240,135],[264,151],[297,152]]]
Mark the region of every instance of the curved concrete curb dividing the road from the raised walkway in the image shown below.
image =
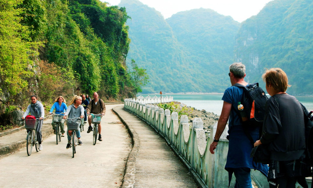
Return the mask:
[[[136,156],[138,154],[140,140],[136,131],[131,127],[131,124],[125,121],[123,116],[117,112],[116,107],[112,108],[113,112],[120,118],[121,122],[126,126],[129,135],[131,136],[133,148],[129,153],[126,165],[125,165],[125,173],[121,188],[133,188],[135,187],[135,176],[136,176]],[[124,107],[122,110],[125,111]],[[126,111],[127,112],[127,111]]]

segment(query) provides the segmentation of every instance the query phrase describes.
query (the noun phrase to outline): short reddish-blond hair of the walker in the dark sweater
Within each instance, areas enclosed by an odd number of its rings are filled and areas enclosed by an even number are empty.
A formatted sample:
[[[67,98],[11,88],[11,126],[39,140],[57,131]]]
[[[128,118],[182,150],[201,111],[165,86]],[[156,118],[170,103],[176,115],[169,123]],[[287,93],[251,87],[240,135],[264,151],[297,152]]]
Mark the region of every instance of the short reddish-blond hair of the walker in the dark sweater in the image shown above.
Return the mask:
[[[262,75],[267,86],[271,85],[275,92],[285,92],[291,85],[288,84],[286,73],[280,68],[265,69]]]

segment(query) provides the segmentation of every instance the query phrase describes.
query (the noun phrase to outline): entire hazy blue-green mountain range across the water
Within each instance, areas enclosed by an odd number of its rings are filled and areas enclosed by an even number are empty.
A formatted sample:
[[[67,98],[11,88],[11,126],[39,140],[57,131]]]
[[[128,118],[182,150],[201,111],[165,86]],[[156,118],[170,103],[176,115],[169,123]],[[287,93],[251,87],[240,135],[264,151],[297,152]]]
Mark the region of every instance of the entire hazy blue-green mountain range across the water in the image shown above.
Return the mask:
[[[292,95],[313,95],[313,2],[274,0],[241,24],[211,9],[163,18],[137,0],[122,0],[129,25],[131,59],[147,70],[151,92],[223,92],[228,66],[246,65],[245,80],[259,82],[264,68],[280,67]]]

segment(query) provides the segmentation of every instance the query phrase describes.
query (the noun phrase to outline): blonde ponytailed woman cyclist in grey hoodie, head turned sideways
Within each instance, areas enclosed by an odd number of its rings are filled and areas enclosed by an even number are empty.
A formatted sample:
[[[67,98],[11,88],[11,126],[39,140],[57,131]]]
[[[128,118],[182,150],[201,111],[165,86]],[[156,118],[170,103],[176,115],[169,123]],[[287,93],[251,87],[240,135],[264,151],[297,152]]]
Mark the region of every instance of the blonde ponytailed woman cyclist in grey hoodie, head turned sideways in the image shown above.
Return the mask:
[[[84,107],[81,104],[81,97],[75,95],[72,101],[69,103],[69,106],[63,116],[64,119],[69,118],[84,118]],[[69,149],[71,146],[71,135],[72,131],[67,131],[67,140],[66,149]],[[78,145],[83,145],[83,142],[80,140],[80,130],[76,131],[76,136],[78,138]]]

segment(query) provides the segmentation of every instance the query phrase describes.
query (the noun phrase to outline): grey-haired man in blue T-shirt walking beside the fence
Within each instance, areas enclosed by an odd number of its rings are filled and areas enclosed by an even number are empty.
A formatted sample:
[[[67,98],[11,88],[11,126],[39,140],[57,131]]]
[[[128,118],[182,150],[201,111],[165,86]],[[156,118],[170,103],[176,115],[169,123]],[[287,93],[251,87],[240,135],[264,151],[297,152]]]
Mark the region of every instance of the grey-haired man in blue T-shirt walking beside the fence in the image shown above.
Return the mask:
[[[264,175],[267,175],[268,173],[267,165],[255,163],[253,162],[252,158],[250,158],[250,152],[253,148],[253,145],[249,141],[247,135],[244,133],[244,128],[240,117],[235,111],[238,102],[241,101],[244,88],[233,85],[238,83],[243,86],[248,86],[248,83],[244,81],[244,77],[246,76],[245,70],[245,65],[242,63],[233,63],[229,66],[228,76],[230,77],[232,86],[228,87],[224,91],[224,95],[222,97],[222,100],[224,101],[222,113],[218,120],[214,141],[210,145],[210,152],[214,154],[214,149],[217,148],[219,138],[222,135],[229,118],[229,145],[225,170],[227,170],[229,173],[229,183],[232,175],[235,175],[235,188],[252,188],[250,169],[259,170]],[[254,141],[258,140],[258,127],[252,128],[249,130],[249,132]]]

